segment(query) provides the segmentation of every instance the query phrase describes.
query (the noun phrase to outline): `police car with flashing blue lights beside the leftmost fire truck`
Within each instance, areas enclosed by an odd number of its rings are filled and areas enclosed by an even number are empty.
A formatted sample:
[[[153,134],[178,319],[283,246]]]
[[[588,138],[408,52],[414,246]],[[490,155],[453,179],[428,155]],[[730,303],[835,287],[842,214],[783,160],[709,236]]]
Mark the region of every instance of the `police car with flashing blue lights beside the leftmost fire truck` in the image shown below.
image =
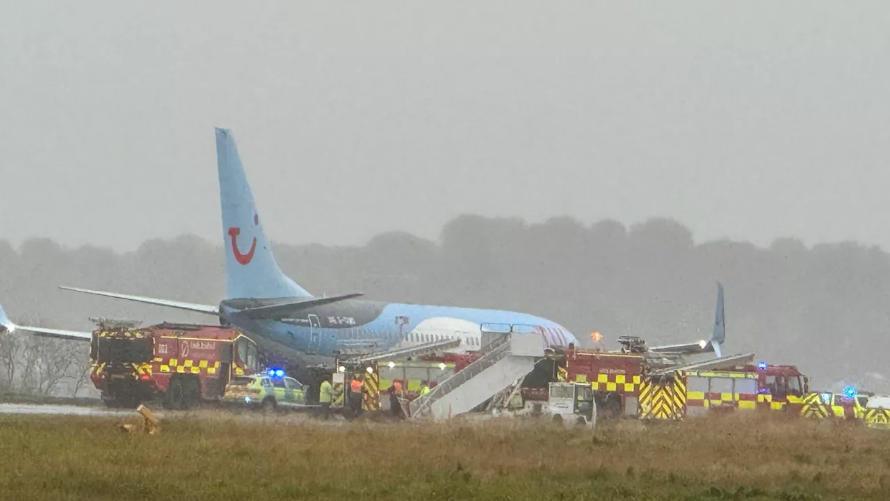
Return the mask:
[[[223,399],[230,404],[260,408],[271,412],[277,407],[303,408],[306,388],[302,382],[287,377],[281,369],[269,369],[265,374],[251,374],[232,378],[226,385]]]

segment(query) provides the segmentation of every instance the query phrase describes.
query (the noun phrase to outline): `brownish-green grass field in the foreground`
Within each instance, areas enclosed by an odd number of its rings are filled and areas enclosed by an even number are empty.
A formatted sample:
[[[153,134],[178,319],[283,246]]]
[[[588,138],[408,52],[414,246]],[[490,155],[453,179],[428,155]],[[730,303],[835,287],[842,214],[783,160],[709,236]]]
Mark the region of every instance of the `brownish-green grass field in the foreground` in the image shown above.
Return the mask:
[[[134,417],[132,423],[139,423]],[[890,432],[725,416],[567,431],[499,419],[0,417],[0,498],[890,499]]]

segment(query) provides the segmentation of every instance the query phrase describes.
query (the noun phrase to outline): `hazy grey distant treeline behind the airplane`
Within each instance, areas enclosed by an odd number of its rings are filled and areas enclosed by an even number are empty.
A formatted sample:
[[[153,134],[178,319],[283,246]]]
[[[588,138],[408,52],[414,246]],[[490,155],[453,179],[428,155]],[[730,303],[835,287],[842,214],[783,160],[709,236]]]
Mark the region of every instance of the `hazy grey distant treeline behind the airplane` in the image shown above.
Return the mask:
[[[0,241],[0,302],[22,323],[89,330],[88,316],[216,323],[122,300],[60,291],[61,284],[216,303],[223,297],[220,242],[150,240],[127,253],[51,240]],[[651,343],[708,339],[716,282],[726,294],[724,351],[755,350],[795,364],[821,387],[885,390],[890,349],[890,259],[855,242],[807,248],[779,239],[696,245],[676,221],[629,228],[571,218],[527,224],[462,216],[440,242],[379,234],[362,247],[275,244],[279,265],[310,292],[365,292],[368,299],[504,308],[546,316],[587,345],[630,334]]]

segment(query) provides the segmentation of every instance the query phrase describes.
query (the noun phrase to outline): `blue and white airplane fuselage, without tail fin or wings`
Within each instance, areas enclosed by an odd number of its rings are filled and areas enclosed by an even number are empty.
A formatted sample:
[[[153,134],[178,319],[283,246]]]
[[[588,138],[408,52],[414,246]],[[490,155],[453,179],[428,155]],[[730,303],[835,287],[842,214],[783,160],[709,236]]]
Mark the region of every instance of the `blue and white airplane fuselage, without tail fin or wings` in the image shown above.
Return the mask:
[[[291,299],[292,300],[292,299]],[[295,311],[278,320],[251,319],[239,311],[287,300],[223,300],[220,318],[255,337],[306,355],[332,357],[339,350],[385,351],[459,338],[465,352],[481,349],[485,324],[520,325],[547,346],[577,343],[562,325],[513,311],[441,307],[370,300],[343,300]]]

